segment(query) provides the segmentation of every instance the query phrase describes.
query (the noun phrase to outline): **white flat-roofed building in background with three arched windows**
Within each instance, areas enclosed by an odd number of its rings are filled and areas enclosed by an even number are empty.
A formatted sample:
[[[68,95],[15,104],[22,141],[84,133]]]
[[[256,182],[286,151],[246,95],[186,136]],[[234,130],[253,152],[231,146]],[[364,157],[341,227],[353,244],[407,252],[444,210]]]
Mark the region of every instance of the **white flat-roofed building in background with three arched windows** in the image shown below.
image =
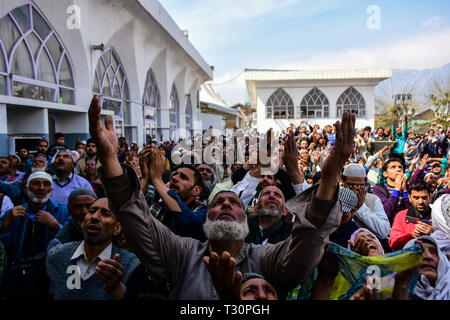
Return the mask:
[[[307,120],[321,128],[334,124],[344,110],[356,113],[356,127],[374,127],[375,86],[392,76],[388,69],[260,70],[246,69],[253,125],[259,132],[281,132]]]

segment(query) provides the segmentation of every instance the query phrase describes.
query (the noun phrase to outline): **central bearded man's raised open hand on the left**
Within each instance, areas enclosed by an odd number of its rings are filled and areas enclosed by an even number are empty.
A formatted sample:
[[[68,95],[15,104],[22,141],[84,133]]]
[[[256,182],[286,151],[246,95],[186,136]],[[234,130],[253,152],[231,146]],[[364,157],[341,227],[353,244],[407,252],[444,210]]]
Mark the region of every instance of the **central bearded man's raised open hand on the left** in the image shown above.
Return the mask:
[[[105,127],[100,120],[100,97],[95,95],[89,107],[89,133],[97,145],[97,154],[103,166],[105,177],[120,176],[123,173],[117,151],[119,150],[118,139],[114,132],[114,119],[106,116]]]

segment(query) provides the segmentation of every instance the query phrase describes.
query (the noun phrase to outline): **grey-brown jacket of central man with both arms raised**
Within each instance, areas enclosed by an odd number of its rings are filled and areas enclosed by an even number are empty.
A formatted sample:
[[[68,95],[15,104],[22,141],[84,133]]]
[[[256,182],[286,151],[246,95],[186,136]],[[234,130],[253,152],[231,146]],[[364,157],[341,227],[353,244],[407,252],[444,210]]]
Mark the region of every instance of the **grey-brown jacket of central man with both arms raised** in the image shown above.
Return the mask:
[[[156,220],[134,170],[126,165],[123,168],[123,175],[103,180],[129,247],[152,277],[172,285],[171,299],[218,299],[202,260],[210,253],[208,242],[179,237]],[[235,257],[237,271],[261,273],[277,289],[280,298],[312,273],[323,255],[324,241],[339,226],[342,216],[339,202],[314,198],[316,190],[317,187],[310,188],[286,204],[296,215],[292,235],[287,240],[265,246],[244,244]]]

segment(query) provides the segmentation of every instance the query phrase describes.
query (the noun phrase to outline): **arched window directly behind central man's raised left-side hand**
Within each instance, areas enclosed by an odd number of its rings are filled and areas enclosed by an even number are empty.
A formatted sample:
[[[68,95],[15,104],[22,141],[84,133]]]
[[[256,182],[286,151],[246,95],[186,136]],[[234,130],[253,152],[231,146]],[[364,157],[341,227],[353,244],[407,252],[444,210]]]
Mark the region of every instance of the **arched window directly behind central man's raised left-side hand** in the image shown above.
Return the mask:
[[[123,137],[125,127],[131,127],[130,94],[127,76],[113,48],[98,60],[92,91],[100,96],[103,109],[114,111],[116,134]]]

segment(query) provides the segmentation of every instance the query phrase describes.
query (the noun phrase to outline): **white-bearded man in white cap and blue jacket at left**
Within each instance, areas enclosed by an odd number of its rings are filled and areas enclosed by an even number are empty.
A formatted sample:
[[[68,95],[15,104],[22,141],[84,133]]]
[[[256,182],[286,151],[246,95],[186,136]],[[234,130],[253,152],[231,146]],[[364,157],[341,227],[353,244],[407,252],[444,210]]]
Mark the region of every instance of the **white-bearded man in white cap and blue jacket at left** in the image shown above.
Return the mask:
[[[70,221],[67,207],[50,199],[52,176],[32,173],[25,193],[28,202],[6,212],[0,221],[8,267],[3,294],[7,299],[46,299],[45,254],[50,240]]]

